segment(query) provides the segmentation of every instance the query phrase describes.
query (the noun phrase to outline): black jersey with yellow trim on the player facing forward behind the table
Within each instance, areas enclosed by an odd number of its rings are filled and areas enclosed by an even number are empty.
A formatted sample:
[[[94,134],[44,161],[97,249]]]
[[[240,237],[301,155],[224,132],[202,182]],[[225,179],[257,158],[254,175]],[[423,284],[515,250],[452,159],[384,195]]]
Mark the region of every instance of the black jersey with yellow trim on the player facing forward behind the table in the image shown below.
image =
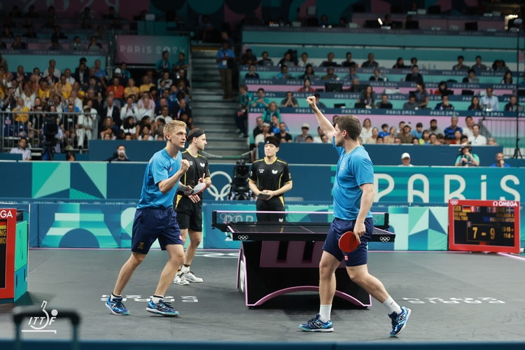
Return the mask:
[[[248,180],[254,182],[259,190],[274,191],[291,182],[292,174],[284,160],[276,158],[274,162],[267,163],[266,158],[262,158],[252,163]]]

